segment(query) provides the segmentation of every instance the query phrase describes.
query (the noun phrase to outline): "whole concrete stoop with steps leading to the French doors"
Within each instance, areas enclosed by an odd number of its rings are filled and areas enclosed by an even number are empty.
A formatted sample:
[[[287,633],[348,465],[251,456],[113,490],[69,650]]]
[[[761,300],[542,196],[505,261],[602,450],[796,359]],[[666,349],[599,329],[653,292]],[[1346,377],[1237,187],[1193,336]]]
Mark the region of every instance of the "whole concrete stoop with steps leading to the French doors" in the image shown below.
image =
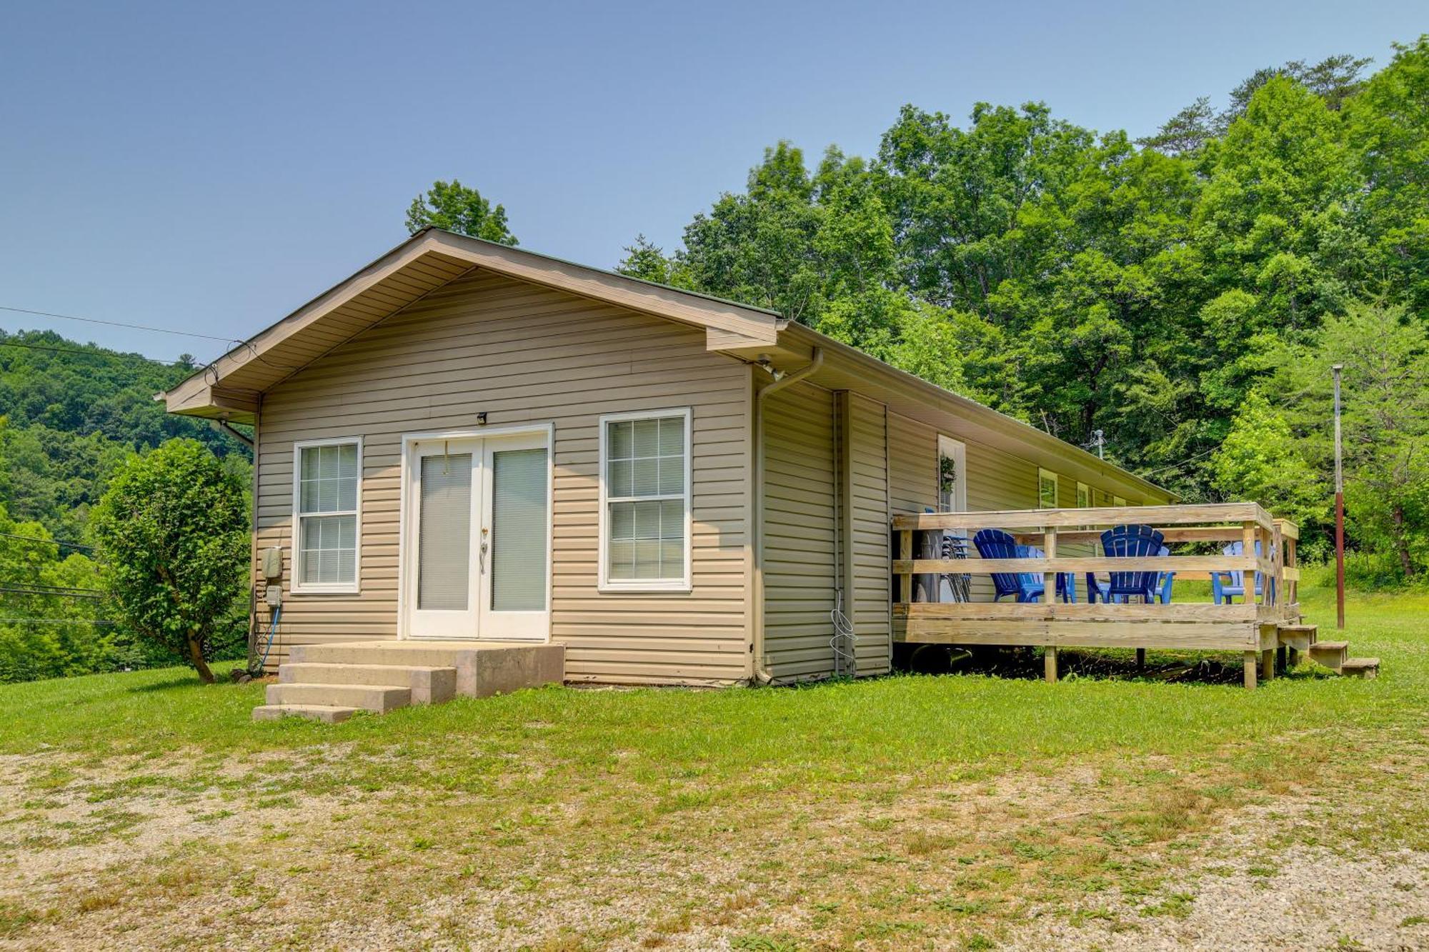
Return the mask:
[[[560,683],[563,645],[522,642],[340,642],[294,645],[267,686],[254,720],[283,716],[326,723],[357,710],[386,713],[457,695],[489,698],[522,688]]]

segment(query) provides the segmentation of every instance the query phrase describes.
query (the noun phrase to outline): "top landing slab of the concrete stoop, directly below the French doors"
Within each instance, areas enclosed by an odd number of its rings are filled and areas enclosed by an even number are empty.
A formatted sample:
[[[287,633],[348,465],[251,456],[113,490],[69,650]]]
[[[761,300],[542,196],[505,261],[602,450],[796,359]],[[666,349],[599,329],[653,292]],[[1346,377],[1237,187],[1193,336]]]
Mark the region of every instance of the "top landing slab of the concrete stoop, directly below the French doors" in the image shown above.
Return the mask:
[[[486,698],[559,685],[566,676],[566,649],[529,642],[337,642],[294,645],[289,663],[454,668],[457,695]]]

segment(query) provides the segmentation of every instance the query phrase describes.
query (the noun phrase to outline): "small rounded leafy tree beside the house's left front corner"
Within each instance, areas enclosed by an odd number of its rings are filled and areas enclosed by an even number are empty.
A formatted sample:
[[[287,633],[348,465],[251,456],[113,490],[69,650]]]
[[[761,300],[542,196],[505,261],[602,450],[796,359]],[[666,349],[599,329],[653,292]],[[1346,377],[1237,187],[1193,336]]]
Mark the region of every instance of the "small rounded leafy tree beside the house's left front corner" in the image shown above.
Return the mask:
[[[213,682],[207,659],[246,587],[247,492],[194,440],[131,456],[91,515],[119,612]]]

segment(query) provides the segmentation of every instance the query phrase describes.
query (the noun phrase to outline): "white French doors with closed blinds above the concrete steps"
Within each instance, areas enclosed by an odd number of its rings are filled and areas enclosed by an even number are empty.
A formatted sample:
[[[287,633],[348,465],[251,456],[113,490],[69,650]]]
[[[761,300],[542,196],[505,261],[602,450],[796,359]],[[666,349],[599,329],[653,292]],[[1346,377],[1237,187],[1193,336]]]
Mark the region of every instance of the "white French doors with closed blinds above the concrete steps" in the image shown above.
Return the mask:
[[[402,635],[546,640],[549,430],[403,445]]]

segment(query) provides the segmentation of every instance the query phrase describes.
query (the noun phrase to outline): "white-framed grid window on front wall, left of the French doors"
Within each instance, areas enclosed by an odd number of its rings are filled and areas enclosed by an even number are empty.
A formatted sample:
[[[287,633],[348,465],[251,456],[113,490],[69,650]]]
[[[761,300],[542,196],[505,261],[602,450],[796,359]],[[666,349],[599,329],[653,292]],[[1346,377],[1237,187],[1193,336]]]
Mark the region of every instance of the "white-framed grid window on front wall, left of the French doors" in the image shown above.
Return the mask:
[[[362,437],[293,443],[293,592],[357,592]]]

